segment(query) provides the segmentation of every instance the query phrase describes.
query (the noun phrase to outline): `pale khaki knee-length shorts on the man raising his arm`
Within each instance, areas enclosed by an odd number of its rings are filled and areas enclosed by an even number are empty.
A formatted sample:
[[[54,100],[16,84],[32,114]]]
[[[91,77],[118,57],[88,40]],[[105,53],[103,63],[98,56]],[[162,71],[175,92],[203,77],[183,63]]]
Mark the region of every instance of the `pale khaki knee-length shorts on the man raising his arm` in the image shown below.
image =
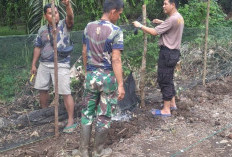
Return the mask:
[[[54,68],[48,67],[44,64],[39,65],[36,79],[35,89],[49,90],[51,82],[55,85]],[[70,70],[68,67],[58,66],[58,93],[61,95],[71,94],[70,89]]]

